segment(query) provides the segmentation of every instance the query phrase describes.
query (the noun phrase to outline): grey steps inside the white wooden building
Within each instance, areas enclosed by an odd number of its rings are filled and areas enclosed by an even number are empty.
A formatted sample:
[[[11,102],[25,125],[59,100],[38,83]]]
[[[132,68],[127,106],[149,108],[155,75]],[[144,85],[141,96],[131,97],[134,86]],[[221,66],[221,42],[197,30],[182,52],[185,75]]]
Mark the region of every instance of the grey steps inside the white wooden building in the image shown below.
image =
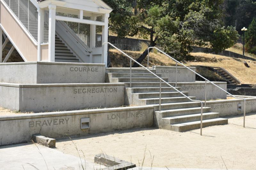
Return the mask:
[[[57,35],[55,35],[55,62],[79,63],[76,56]]]

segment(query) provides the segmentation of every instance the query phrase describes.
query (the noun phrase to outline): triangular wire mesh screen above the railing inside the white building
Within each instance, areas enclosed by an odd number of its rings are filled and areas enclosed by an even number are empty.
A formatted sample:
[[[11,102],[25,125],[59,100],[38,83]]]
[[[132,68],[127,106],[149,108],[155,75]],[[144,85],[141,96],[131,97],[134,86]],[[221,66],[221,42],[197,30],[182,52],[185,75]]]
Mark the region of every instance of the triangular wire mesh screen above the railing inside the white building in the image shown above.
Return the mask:
[[[64,22],[90,48],[91,25],[78,22]]]

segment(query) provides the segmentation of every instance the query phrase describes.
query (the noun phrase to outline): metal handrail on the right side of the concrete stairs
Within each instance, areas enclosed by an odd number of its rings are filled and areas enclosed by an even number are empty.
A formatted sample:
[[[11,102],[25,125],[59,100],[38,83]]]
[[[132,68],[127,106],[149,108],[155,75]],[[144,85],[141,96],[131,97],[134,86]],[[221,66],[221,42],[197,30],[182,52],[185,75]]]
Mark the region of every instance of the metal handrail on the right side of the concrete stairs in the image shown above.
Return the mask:
[[[204,91],[204,93],[205,93],[204,106],[205,106],[205,107],[206,107],[206,85],[207,85],[207,82],[209,82],[209,83],[211,83],[212,85],[214,85],[214,86],[218,87],[219,89],[221,89],[222,91],[226,92],[227,94],[229,94],[230,96],[232,96],[232,97],[234,97],[234,98],[236,98],[236,99],[243,99],[243,100],[244,100],[244,127],[245,127],[246,99],[256,99],[256,98],[243,98],[243,97],[236,97],[236,95],[232,95],[232,94],[230,94],[230,93],[229,93],[229,92],[227,92],[226,90],[222,89],[222,88],[221,88],[221,87],[219,87],[218,85],[215,85],[215,84],[214,84],[214,83],[212,83],[210,80],[208,80],[208,79],[204,78],[204,77],[203,77],[203,76],[201,76],[200,74],[196,73],[196,71],[191,70],[190,68],[188,68],[188,67],[187,67],[187,66],[185,66],[184,64],[182,64],[182,63],[180,63],[179,61],[175,60],[175,59],[174,59],[174,58],[172,58],[170,55],[168,55],[168,54],[164,53],[162,50],[160,50],[160,49],[158,49],[158,48],[156,48],[156,47],[149,47],[149,48],[148,48],[148,65],[149,65],[149,49],[151,49],[151,48],[155,48],[156,50],[160,51],[162,54],[166,55],[167,57],[171,58],[172,60],[174,60],[174,61],[176,62],[176,72],[175,72],[175,74],[176,74],[176,83],[175,83],[175,85],[176,85],[176,86],[177,86],[177,63],[179,63],[179,64],[183,65],[183,66],[184,66],[184,67],[186,67],[188,70],[190,70],[190,71],[194,72],[197,76],[199,76],[199,77],[201,77],[201,78],[203,78],[203,79],[205,80],[205,91]],[[201,119],[202,119],[202,117],[201,117]]]

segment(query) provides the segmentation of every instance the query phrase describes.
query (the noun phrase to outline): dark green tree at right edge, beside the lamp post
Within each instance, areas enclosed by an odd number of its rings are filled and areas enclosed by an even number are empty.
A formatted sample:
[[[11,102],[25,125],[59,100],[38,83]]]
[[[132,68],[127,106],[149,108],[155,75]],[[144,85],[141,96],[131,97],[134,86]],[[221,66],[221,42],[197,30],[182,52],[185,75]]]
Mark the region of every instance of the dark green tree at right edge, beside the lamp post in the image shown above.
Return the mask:
[[[256,18],[252,19],[252,23],[245,32],[245,42],[245,50],[256,54]]]

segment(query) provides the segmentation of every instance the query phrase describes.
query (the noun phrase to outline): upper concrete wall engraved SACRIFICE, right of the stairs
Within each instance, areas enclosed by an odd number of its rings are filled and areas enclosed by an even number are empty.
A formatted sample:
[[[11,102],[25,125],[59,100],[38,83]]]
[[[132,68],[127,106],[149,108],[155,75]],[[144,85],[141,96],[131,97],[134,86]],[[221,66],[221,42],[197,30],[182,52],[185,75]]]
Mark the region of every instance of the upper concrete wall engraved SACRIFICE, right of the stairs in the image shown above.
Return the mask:
[[[189,67],[196,71],[196,67]],[[172,66],[153,66],[157,74],[162,74],[163,78],[168,78],[169,82],[176,81],[176,67]],[[185,67],[177,67],[177,82],[195,82],[196,74]]]

